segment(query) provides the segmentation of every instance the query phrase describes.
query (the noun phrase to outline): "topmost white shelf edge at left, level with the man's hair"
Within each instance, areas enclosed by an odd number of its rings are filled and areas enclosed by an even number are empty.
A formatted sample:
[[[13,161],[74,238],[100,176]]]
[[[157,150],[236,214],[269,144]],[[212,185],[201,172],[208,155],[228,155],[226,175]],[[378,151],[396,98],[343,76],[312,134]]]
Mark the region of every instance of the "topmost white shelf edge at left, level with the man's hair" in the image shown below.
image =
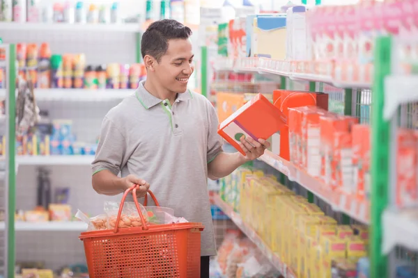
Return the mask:
[[[1,31],[99,31],[137,33],[141,31],[139,24],[66,24],[66,23],[19,23],[0,22]]]

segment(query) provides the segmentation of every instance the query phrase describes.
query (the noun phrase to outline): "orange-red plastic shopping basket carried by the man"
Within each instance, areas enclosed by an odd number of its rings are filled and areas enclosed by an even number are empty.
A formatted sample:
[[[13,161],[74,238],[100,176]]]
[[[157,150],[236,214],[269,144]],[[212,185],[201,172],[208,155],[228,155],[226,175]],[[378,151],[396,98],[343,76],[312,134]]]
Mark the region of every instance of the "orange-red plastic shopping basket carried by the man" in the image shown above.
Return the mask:
[[[114,230],[86,231],[84,243],[90,278],[200,277],[201,223],[146,224],[136,197],[125,191]],[[123,203],[132,191],[142,227],[119,229]],[[148,191],[155,205],[155,195]],[[146,205],[146,201],[145,201]]]

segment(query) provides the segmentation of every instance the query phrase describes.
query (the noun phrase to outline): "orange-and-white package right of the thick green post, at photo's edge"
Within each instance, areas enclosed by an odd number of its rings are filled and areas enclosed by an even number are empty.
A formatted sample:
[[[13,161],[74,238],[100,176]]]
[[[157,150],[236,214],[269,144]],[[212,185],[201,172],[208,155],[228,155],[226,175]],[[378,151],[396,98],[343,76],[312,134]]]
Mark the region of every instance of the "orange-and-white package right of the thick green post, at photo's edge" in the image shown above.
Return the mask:
[[[398,129],[397,137],[396,206],[417,206],[417,133],[410,129]]]

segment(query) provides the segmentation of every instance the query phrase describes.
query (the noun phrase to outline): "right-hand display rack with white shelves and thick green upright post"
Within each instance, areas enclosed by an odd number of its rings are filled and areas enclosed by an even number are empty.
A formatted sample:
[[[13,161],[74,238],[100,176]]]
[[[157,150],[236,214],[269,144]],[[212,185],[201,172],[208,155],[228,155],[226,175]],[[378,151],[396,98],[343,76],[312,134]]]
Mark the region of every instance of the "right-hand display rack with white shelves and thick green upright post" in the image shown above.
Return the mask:
[[[410,217],[410,214],[416,214],[416,211],[394,209],[395,193],[389,192],[389,188],[394,188],[392,184],[396,183],[397,138],[395,131],[398,126],[396,115],[399,114],[396,112],[399,112],[399,106],[418,101],[416,93],[418,79],[416,76],[391,76],[393,68],[396,67],[394,63],[398,63],[398,60],[391,56],[391,53],[396,53],[394,40],[390,37],[376,40],[375,72],[371,83],[348,83],[314,74],[294,74],[289,70],[290,65],[286,67],[288,62],[274,61],[268,58],[238,58],[235,62],[220,58],[215,67],[222,71],[276,74],[281,76],[281,88],[288,90],[294,88],[295,81],[308,82],[304,83],[304,88],[307,91],[326,92],[324,88],[332,86],[334,91],[329,92],[330,102],[333,101],[338,105],[334,106],[334,109],[330,105],[330,111],[333,110],[333,112],[343,115],[355,115],[359,118],[360,123],[372,126],[370,202],[360,202],[355,197],[327,190],[325,184],[318,179],[311,177],[293,163],[270,151],[266,151],[260,160],[284,174],[289,181],[295,181],[306,188],[309,202],[313,202],[313,195],[315,195],[327,204],[331,204],[334,211],[343,213],[343,224],[349,224],[352,221],[350,218],[369,224],[370,273],[373,278],[395,277],[396,261],[402,260],[401,254],[405,254],[405,251],[395,252],[394,247],[403,246],[408,247],[408,250],[412,252],[418,251],[415,244],[418,240],[418,226],[413,222],[416,218]],[[228,68],[228,65],[233,65],[233,67]],[[366,113],[364,106],[368,106]],[[408,108],[409,114],[405,115],[405,121],[412,121],[410,119],[411,110]],[[284,180],[284,177],[279,178],[281,183],[284,183]],[[228,204],[225,204],[220,198],[217,199],[217,204],[247,234],[245,224],[237,220],[239,216],[231,212]],[[408,215],[408,213],[410,214]],[[247,234],[247,236],[254,238],[254,235]],[[254,239],[254,242],[256,241],[257,239]],[[411,260],[415,259],[409,261]],[[280,268],[280,264],[272,263]],[[286,277],[286,272],[282,272],[282,275]]]

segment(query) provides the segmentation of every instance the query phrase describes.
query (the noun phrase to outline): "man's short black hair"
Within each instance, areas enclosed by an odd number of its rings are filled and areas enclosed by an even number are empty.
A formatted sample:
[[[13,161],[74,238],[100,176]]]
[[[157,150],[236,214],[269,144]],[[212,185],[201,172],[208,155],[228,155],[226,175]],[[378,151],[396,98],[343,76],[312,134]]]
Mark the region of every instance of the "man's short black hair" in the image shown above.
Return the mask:
[[[192,30],[173,19],[162,19],[148,26],[141,40],[142,58],[153,56],[158,62],[169,49],[169,40],[187,39]]]

